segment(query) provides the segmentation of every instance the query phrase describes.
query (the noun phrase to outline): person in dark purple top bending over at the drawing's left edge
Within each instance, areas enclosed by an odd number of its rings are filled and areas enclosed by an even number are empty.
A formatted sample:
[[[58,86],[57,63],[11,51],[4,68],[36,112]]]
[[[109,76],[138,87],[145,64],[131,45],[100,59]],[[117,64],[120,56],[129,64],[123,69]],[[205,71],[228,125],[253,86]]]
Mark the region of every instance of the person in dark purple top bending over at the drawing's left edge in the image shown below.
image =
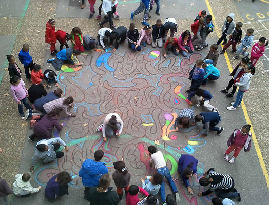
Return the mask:
[[[58,131],[62,130],[63,123],[59,125],[57,115],[59,115],[59,110],[52,110],[50,113],[46,114],[42,119],[35,123],[33,127],[33,134],[29,137],[31,141],[34,138],[50,139],[52,135],[52,130],[55,127]]]

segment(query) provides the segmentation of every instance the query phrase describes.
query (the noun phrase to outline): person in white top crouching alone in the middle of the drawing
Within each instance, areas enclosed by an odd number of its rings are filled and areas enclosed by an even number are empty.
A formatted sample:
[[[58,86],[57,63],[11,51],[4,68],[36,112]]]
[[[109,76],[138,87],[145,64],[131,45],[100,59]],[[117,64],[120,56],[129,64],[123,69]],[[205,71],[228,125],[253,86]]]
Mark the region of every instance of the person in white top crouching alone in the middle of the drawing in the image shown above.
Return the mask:
[[[103,124],[98,126],[96,129],[97,132],[102,131],[103,140],[107,141],[107,136],[112,137],[114,134],[119,137],[122,133],[123,121],[117,113],[109,113]]]

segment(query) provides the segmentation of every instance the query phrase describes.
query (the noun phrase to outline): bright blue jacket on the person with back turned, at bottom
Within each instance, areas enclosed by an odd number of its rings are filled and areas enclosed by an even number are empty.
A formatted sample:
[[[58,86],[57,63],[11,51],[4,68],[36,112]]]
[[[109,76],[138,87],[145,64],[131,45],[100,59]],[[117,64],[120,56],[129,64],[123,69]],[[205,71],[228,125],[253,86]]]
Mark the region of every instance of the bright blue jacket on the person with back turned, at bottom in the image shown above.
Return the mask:
[[[82,183],[84,186],[97,187],[99,185],[99,179],[106,173],[108,173],[108,169],[104,162],[97,162],[92,159],[87,159],[82,164],[82,168],[79,171],[79,176],[82,178]]]

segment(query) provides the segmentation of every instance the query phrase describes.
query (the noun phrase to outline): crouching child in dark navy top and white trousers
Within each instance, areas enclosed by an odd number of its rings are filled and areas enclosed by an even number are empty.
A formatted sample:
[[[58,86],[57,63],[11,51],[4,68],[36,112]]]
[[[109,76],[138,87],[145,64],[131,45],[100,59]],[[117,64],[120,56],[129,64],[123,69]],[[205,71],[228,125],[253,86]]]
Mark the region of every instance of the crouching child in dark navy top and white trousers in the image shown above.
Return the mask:
[[[200,107],[203,101],[204,107],[206,107],[209,111],[218,112],[218,109],[216,107],[209,104],[210,100],[212,99],[212,94],[209,91],[198,88],[196,91],[189,93],[188,100],[190,101],[191,97],[195,95],[199,97],[198,102],[196,104],[197,107]]]

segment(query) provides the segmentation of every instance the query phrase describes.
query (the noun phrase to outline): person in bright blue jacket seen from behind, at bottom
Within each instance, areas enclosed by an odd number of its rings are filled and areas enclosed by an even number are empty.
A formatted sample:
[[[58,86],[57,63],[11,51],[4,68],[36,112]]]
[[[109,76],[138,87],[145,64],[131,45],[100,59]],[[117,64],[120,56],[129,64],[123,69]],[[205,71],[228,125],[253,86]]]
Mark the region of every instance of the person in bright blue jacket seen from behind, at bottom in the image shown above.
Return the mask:
[[[85,187],[85,197],[91,187],[97,187],[99,185],[100,177],[108,173],[106,164],[101,162],[103,156],[103,150],[97,150],[94,152],[94,160],[86,159],[86,161],[84,161],[82,164],[81,170],[79,171],[79,176],[82,178],[82,183]]]

